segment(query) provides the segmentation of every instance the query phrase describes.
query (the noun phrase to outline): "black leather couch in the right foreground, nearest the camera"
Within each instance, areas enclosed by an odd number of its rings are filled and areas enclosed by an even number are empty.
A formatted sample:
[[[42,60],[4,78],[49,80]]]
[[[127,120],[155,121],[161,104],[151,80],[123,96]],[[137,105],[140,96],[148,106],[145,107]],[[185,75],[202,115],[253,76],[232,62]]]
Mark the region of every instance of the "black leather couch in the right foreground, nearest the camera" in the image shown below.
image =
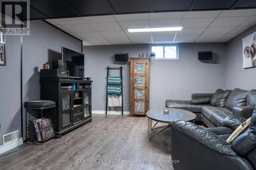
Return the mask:
[[[255,109],[256,110],[256,109]],[[175,170],[256,169],[256,111],[249,129],[233,142],[229,135],[246,119],[228,116],[222,127],[202,128],[183,120],[171,123],[171,152]],[[176,163],[176,162],[179,163]]]

